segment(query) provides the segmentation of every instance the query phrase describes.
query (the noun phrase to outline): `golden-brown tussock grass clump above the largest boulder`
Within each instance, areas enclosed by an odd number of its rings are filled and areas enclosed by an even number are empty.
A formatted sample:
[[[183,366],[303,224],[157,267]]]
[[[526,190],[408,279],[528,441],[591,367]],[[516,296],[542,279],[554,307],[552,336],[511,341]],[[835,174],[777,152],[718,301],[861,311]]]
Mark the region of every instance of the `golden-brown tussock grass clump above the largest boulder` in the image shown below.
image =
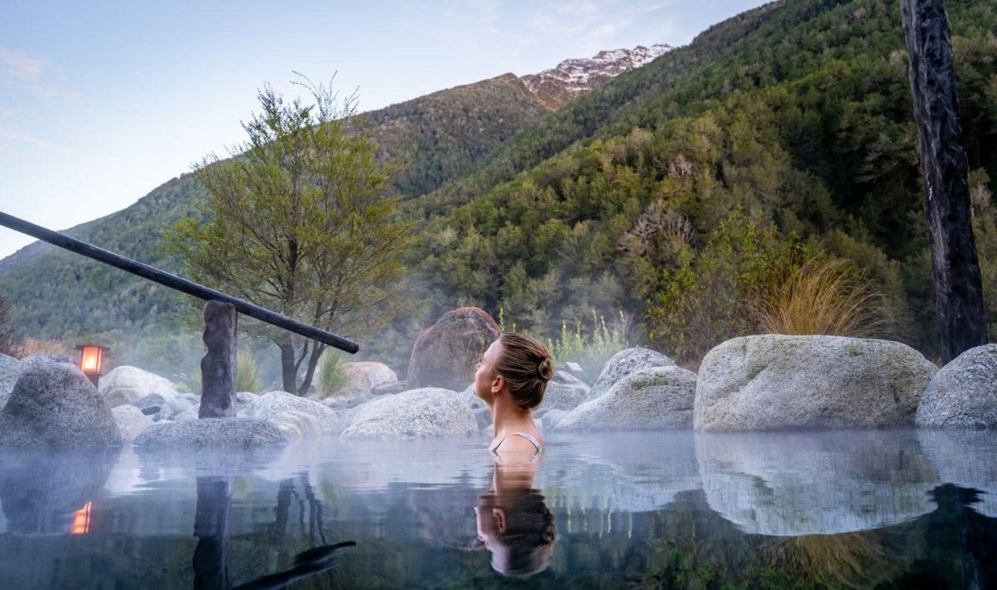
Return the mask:
[[[753,311],[771,334],[867,338],[889,331],[884,299],[854,262],[823,257],[806,262]]]

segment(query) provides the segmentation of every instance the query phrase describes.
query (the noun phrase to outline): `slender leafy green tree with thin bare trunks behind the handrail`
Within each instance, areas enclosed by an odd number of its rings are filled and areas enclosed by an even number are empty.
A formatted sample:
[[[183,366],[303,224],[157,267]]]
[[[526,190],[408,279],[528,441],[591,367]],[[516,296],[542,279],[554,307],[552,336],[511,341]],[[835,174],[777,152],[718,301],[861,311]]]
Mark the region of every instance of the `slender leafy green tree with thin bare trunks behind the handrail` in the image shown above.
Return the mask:
[[[346,335],[386,326],[400,311],[400,254],[412,227],[393,218],[394,169],[377,144],[351,133],[356,96],[299,83],[314,103],[285,103],[270,86],[262,113],[243,124],[248,141],[229,159],[194,166],[201,215],[166,239],[198,280],[314,326]],[[253,326],[280,349],[283,388],[303,395],[325,345]]]

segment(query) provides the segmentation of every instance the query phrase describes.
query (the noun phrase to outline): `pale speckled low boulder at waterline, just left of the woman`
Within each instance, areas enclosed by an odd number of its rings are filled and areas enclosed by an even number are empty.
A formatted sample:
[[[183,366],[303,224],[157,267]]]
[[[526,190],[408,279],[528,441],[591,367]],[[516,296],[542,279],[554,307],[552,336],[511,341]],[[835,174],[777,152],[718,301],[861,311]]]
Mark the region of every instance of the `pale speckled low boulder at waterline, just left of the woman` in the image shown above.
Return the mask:
[[[341,437],[418,439],[472,437],[478,433],[471,408],[456,392],[423,388],[364,404]]]

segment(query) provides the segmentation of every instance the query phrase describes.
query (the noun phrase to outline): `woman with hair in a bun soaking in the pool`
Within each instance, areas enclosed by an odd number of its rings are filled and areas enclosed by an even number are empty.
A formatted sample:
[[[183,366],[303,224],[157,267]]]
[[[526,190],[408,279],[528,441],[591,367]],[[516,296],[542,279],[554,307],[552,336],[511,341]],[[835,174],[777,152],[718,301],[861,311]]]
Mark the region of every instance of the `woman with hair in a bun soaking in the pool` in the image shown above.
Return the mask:
[[[531,336],[502,334],[485,351],[475,373],[475,395],[492,411],[495,439],[489,449],[500,462],[534,462],[543,453],[530,412],[543,401],[553,374],[550,353]]]

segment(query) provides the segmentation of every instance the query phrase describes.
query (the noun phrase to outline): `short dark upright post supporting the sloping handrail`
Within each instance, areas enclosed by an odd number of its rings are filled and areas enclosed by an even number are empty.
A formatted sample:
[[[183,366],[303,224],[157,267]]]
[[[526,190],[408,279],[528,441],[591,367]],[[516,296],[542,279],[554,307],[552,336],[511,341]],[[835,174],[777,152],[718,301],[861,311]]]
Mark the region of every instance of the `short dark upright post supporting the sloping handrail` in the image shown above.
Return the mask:
[[[200,360],[200,412],[197,418],[232,418],[235,408],[235,306],[220,301],[204,305],[204,346]]]

